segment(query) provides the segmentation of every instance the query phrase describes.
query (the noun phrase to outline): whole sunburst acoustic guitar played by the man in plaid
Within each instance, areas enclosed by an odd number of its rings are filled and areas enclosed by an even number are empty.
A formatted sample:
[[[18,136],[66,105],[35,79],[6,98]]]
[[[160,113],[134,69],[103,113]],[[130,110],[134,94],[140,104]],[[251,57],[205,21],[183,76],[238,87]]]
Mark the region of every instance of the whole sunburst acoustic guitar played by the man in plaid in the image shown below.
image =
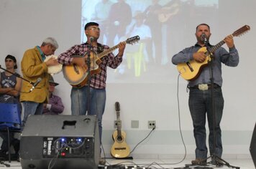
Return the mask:
[[[125,43],[126,44],[134,44],[140,40],[139,36],[128,38]],[[107,54],[114,51],[114,49],[118,48],[118,44],[114,47],[111,47],[109,49],[106,49],[104,52],[101,52],[100,54],[96,54],[96,52],[91,51],[90,52],[90,59],[91,59],[91,65],[90,65],[90,74],[97,74],[101,72],[101,69],[99,68],[99,64],[101,64],[101,58],[105,57]],[[86,54],[84,57],[87,57]],[[74,55],[72,57],[83,57],[79,55]],[[79,67],[76,64],[71,65],[63,65],[63,75],[65,79],[68,81],[70,85],[73,87],[83,87],[86,85],[88,81],[88,68],[87,67]]]

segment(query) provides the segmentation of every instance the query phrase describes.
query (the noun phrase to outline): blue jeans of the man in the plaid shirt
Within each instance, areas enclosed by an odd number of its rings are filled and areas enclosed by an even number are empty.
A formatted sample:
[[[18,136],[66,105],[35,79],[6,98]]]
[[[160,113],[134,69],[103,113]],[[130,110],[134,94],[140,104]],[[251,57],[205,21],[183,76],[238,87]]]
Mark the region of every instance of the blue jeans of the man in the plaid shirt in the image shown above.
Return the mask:
[[[99,137],[101,143],[102,116],[106,104],[106,90],[90,87],[89,95],[90,104],[88,106],[88,87],[81,87],[79,89],[73,87],[71,90],[71,111],[72,115],[96,115],[99,123]]]

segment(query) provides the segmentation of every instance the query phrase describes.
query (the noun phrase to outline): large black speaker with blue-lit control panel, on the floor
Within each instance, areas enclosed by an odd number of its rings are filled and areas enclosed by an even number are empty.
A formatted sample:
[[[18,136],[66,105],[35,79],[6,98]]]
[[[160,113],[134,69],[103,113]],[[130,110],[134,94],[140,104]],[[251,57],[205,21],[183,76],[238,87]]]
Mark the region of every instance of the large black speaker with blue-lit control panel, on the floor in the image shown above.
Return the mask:
[[[30,115],[22,131],[22,169],[98,168],[99,125],[89,115]]]

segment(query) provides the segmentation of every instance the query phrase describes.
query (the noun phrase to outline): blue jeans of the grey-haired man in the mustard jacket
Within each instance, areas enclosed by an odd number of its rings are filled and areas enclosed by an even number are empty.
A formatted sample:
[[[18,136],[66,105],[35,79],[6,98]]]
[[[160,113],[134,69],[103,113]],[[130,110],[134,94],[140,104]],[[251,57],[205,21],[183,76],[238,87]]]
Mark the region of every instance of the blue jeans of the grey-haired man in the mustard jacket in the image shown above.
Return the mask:
[[[22,124],[24,125],[26,123],[29,115],[42,115],[43,108],[43,103],[29,101],[22,102],[22,111],[24,112]]]

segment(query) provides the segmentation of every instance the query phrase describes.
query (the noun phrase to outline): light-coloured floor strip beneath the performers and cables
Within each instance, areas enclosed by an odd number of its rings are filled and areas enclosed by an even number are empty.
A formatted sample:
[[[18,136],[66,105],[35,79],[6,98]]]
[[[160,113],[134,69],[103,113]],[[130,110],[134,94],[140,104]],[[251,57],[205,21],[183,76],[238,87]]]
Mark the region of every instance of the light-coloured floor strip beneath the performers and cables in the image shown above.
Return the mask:
[[[255,168],[252,159],[243,159],[243,160],[226,160],[229,165],[232,165],[237,168],[241,169],[253,169]],[[161,159],[161,160],[154,160],[154,159],[134,159],[134,160],[114,160],[114,159],[106,159],[106,165],[116,165],[122,164],[120,168],[125,168],[124,166],[133,166],[137,165],[137,168],[185,168],[186,164],[191,163],[191,159],[186,159],[182,163],[178,163],[178,161],[173,159]],[[16,161],[12,161],[12,163],[4,162],[6,164],[11,165],[10,169],[21,169],[22,166],[20,163]],[[6,168],[4,165],[0,164],[0,168]],[[110,167],[107,167],[110,168]],[[131,167],[132,168],[132,167]],[[216,165],[208,165],[207,167],[188,167],[188,168],[218,168]],[[231,168],[227,166],[223,166],[221,168]],[[72,168],[76,169],[76,168]],[[86,169],[86,168],[85,168]]]

